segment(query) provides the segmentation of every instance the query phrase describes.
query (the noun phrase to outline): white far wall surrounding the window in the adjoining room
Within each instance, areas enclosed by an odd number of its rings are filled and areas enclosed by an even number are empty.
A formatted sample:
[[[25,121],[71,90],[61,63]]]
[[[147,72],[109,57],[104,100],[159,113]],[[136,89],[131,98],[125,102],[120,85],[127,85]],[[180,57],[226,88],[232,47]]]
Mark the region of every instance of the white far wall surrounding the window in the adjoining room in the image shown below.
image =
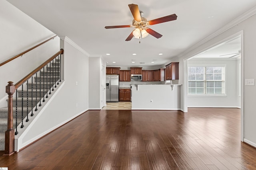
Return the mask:
[[[226,64],[225,96],[188,96],[188,107],[238,107],[238,68],[236,60],[188,60],[188,64]]]

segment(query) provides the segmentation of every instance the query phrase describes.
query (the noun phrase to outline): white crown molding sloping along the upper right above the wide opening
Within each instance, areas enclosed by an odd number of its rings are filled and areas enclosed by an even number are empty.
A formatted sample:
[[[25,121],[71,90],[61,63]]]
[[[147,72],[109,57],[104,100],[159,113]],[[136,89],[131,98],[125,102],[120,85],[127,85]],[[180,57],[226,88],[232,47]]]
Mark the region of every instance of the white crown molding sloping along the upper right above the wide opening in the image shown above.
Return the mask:
[[[224,25],[224,27],[220,28],[219,30],[217,30],[215,33],[209,35],[208,37],[202,39],[201,41],[199,41],[198,43],[196,43],[195,45],[192,45],[191,47],[189,47],[186,51],[184,51],[183,53],[181,53],[180,55],[178,55],[177,57],[182,57],[185,54],[189,53],[190,51],[196,49],[197,47],[199,47],[200,45],[203,45],[204,43],[206,43],[207,41],[210,41],[211,39],[213,39],[214,37],[220,35],[221,33],[227,31],[228,29],[234,27],[235,25],[237,25],[238,23],[250,18],[251,16],[256,14],[256,6],[254,6],[252,9],[248,10],[247,12],[245,12],[244,14],[242,14],[240,17],[230,21],[228,24]],[[176,56],[174,56],[176,57]]]

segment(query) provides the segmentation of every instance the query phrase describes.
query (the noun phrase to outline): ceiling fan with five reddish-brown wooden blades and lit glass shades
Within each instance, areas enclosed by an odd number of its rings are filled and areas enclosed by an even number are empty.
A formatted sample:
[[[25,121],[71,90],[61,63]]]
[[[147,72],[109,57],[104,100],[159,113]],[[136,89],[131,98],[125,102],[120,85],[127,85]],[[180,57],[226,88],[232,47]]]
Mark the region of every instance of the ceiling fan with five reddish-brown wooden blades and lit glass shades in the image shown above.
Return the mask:
[[[130,35],[126,38],[125,41],[130,41],[133,37],[135,37],[137,39],[141,39],[141,38],[148,36],[148,34],[150,34],[156,38],[160,38],[160,37],[162,37],[162,35],[160,33],[156,32],[153,29],[150,29],[146,26],[147,25],[155,25],[158,23],[163,23],[163,22],[168,22],[168,21],[173,21],[173,20],[177,19],[176,14],[172,14],[169,16],[165,16],[162,18],[157,18],[157,19],[148,21],[146,18],[142,17],[143,12],[139,10],[138,5],[129,4],[128,6],[129,6],[129,8],[132,12],[132,16],[134,18],[134,20],[132,21],[132,25],[116,25],[116,26],[106,26],[105,27],[106,29],[135,27],[136,29],[134,29],[132,31],[132,33],[130,33]]]

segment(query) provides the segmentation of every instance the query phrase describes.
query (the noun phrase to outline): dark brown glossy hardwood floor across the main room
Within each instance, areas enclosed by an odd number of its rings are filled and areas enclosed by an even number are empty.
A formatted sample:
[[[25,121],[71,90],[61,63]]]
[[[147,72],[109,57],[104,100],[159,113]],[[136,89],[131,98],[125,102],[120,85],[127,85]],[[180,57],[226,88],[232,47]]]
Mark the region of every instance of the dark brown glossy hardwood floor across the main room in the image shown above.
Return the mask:
[[[93,110],[18,153],[0,156],[0,167],[253,170],[256,149],[240,141],[240,109]]]

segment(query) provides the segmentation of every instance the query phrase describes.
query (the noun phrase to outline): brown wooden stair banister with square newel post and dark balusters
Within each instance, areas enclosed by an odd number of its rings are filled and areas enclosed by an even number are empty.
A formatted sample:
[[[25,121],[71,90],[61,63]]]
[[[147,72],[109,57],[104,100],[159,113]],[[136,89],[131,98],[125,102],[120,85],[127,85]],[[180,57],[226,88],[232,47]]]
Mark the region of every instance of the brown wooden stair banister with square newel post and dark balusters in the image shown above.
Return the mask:
[[[41,69],[44,69],[45,66],[47,67],[49,63],[51,64],[51,61],[54,61],[54,59],[56,61],[56,57],[58,57],[59,55],[61,55],[63,53],[64,53],[64,50],[60,49],[60,51],[58,51],[50,59],[48,59],[43,64],[38,66],[36,69],[34,69],[27,76],[22,78],[22,80],[20,80],[16,84],[13,85],[13,82],[11,82],[11,81],[8,82],[8,85],[6,86],[6,93],[8,94],[8,123],[7,123],[7,131],[5,132],[5,152],[4,152],[4,155],[11,155],[11,154],[14,153],[14,135],[15,135],[15,132],[14,132],[14,129],[13,129],[13,101],[12,101],[13,94],[15,93],[15,91],[16,91],[16,94],[17,94],[17,89],[20,86],[22,86],[24,83],[28,82],[28,79],[32,78],[33,75],[37,74],[39,71],[41,71]],[[55,68],[55,70],[56,70],[56,68]],[[58,68],[58,71],[60,72],[60,68]],[[52,76],[53,76],[53,74],[52,74]],[[50,75],[50,78],[51,78],[51,75]],[[23,101],[22,101],[22,103],[23,103]],[[33,107],[33,105],[32,105],[32,107]],[[17,108],[17,105],[16,105],[16,108]],[[32,109],[32,111],[33,111],[33,109]],[[23,113],[22,113],[22,116],[23,116]],[[16,113],[16,127],[17,127],[17,113]]]

